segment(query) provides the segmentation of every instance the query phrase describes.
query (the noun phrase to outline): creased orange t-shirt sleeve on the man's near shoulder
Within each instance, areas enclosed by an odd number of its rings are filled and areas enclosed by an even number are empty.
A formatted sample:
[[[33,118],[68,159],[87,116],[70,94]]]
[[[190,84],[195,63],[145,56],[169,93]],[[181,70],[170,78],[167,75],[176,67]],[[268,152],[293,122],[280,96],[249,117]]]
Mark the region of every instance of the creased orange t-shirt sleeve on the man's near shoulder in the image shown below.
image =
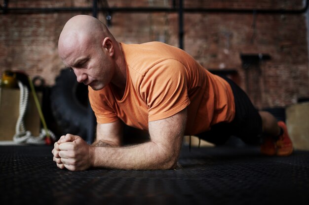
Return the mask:
[[[148,106],[149,121],[171,117],[190,104],[187,71],[175,59],[155,64],[145,74],[140,93]]]

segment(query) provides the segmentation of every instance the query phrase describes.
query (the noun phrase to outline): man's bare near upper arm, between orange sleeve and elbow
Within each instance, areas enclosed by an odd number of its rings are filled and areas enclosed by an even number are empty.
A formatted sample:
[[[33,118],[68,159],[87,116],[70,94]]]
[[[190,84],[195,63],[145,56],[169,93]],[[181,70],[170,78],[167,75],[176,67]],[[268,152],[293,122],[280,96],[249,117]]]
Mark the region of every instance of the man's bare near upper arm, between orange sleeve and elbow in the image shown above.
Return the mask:
[[[151,141],[160,146],[173,160],[178,159],[186,122],[187,108],[171,117],[149,122]]]

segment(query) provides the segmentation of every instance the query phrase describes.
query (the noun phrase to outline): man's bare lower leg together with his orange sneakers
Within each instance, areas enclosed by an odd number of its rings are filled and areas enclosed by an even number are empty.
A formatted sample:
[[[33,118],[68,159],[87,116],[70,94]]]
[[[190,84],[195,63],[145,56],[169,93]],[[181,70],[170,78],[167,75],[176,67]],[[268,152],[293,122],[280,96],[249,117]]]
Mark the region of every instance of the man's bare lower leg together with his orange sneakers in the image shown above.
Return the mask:
[[[292,141],[289,138],[286,125],[276,120],[269,112],[259,111],[262,118],[264,142],[261,152],[266,155],[288,156],[293,152]]]

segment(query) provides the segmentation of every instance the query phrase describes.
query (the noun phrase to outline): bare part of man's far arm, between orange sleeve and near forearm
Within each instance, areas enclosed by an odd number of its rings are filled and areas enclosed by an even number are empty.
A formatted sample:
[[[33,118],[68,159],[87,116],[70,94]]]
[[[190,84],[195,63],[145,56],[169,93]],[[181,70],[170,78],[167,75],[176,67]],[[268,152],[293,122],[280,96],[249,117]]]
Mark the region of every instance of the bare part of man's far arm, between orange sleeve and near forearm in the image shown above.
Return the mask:
[[[112,146],[121,146],[123,124],[121,120],[111,123],[97,124],[96,142],[103,141]]]

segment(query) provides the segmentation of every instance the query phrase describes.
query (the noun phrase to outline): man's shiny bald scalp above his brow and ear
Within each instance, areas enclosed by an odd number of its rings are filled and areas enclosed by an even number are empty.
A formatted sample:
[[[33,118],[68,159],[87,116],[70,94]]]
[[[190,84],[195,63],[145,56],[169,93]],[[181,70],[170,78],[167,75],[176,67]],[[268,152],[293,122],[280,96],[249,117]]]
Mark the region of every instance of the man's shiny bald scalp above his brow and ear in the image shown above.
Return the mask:
[[[59,56],[65,59],[70,52],[80,49],[84,44],[100,45],[105,37],[110,37],[116,43],[114,36],[98,19],[87,15],[74,16],[65,24],[60,34]]]

